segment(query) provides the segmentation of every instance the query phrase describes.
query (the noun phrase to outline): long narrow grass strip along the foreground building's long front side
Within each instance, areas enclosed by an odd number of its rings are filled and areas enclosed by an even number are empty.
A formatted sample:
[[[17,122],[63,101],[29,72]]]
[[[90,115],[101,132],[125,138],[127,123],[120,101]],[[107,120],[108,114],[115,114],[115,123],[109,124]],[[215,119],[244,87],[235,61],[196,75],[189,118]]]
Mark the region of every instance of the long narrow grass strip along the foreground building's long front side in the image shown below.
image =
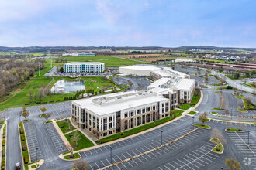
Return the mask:
[[[182,110],[175,110],[176,112],[176,117],[179,117],[182,115]],[[154,128],[156,127],[157,125],[159,124],[164,124],[165,122],[168,122],[168,121],[171,121],[175,119],[175,117],[165,117],[159,121],[156,121],[155,124],[154,122],[150,123],[150,124],[145,124],[143,126],[140,126],[138,128],[133,128],[133,129],[130,129],[129,131],[124,131],[124,134],[122,135],[122,133],[118,133],[118,134],[113,134],[112,136],[109,136],[109,137],[106,137],[106,138],[102,138],[100,139],[100,142],[101,143],[106,143],[106,142],[109,142],[109,141],[114,141],[116,139],[119,139],[119,138],[125,138],[126,136],[130,136],[132,134],[137,134],[139,133],[140,131],[145,131],[147,129],[150,129],[150,128]]]

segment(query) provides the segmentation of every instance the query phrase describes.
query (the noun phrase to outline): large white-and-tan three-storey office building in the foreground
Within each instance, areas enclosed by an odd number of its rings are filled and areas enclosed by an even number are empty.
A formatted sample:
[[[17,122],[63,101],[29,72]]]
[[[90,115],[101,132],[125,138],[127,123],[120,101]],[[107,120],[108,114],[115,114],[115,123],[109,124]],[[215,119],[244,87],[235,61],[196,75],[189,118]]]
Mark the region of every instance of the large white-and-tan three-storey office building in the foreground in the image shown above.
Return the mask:
[[[72,119],[99,138],[137,128],[170,114],[170,100],[150,90],[106,94],[72,102]]]

